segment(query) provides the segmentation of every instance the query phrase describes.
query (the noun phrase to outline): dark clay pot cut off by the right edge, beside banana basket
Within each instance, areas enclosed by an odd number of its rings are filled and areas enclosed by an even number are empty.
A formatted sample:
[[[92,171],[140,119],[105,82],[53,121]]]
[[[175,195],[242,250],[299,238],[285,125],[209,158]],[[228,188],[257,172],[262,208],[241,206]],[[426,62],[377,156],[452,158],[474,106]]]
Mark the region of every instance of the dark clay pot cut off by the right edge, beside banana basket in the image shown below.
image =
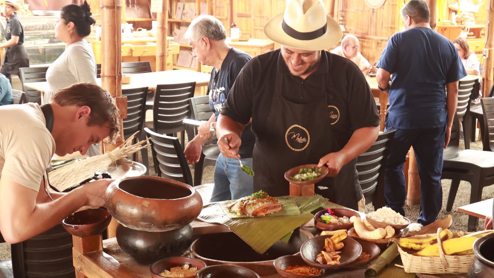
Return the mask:
[[[494,233],[477,239],[473,244],[473,254],[474,257],[468,268],[468,277],[494,277]]]

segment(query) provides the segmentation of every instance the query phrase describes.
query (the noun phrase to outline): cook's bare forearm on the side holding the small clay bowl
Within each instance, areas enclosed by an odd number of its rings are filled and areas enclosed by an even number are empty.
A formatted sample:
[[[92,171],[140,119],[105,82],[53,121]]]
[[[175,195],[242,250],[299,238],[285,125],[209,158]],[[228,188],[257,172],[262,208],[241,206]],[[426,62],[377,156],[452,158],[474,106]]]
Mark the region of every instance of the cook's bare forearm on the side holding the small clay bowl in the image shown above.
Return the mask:
[[[344,164],[367,151],[378,135],[379,127],[365,127],[354,131],[350,140],[339,151],[339,153],[343,154]]]

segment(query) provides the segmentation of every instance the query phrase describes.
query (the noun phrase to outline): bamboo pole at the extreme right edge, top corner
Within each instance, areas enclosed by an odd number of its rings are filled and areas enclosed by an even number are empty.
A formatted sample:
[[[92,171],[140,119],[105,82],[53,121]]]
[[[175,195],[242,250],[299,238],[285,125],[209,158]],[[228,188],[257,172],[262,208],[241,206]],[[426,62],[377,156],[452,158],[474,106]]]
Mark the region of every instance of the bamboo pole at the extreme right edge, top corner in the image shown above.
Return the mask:
[[[486,37],[486,48],[484,49],[484,55],[486,60],[484,63],[484,86],[483,95],[487,97],[489,90],[493,86],[493,66],[494,66],[494,0],[490,0],[487,7],[487,14],[489,15],[487,21],[487,37]]]

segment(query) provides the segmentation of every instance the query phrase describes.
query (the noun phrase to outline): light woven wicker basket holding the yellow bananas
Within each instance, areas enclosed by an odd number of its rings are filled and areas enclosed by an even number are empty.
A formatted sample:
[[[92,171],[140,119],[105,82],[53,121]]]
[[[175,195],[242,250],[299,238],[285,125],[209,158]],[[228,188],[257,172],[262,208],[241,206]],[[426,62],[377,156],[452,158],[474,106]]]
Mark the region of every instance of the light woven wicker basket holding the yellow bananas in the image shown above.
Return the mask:
[[[406,273],[446,274],[467,273],[468,267],[474,255],[450,256],[445,255],[442,247],[441,228],[437,231],[439,257],[415,256],[404,251],[398,245],[398,251]]]

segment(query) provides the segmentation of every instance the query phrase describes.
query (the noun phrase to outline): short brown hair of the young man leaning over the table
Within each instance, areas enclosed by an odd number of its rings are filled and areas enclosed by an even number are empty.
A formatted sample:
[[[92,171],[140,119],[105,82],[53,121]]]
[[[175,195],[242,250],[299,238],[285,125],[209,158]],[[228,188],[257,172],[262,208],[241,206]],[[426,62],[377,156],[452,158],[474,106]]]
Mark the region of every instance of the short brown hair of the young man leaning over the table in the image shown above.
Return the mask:
[[[120,114],[115,99],[103,87],[94,83],[76,83],[58,90],[50,100],[60,106],[76,105],[91,108],[88,126],[106,126],[110,129],[109,141],[120,133]]]

